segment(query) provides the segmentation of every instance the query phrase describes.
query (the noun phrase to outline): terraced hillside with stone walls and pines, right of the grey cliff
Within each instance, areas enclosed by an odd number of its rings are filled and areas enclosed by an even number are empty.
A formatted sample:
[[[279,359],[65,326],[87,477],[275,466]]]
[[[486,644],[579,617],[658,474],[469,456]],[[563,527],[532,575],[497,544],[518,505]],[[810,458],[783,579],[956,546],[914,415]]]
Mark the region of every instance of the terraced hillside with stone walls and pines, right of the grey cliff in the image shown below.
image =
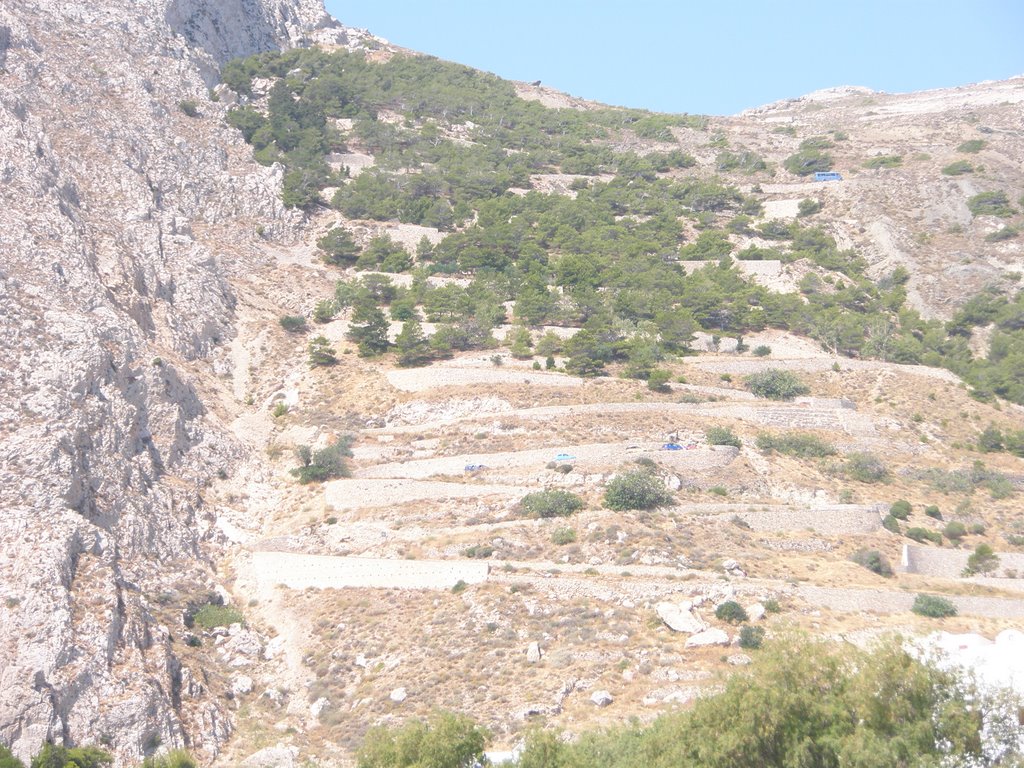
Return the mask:
[[[209,496],[263,651],[223,764],[437,707],[507,745],[648,721],[757,652],[730,600],[1019,626],[1024,82],[660,116],[367,45],[217,89],[312,231],[228,355],[252,454]]]

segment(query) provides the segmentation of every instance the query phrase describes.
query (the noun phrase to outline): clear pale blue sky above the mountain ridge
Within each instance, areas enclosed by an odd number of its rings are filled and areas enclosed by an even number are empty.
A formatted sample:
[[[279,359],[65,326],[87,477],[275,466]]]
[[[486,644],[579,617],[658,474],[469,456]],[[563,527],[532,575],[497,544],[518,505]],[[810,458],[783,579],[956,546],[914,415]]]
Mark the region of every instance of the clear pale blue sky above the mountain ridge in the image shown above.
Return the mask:
[[[395,45],[655,112],[1024,75],[1022,0],[327,0]]]

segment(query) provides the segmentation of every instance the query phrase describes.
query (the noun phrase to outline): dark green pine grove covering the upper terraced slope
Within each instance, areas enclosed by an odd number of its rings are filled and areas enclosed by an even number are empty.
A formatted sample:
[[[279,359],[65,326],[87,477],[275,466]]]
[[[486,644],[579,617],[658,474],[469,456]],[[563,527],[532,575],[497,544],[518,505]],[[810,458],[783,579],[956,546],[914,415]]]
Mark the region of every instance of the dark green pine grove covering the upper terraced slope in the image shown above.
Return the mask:
[[[756,197],[720,179],[667,177],[693,164],[678,151],[641,157],[611,148],[609,139],[623,131],[665,137],[674,127],[702,128],[702,121],[551,110],[518,98],[499,78],[424,56],[375,62],[343,51],[271,52],[230,62],[223,77],[241,93],[251,92],[255,77],[273,82],[265,109],[244,106],[229,120],[258,159],[285,163],[286,203],[312,204],[333,185],[333,205],[349,216],[451,232],[436,245],[422,242],[415,260],[429,273],[470,276],[470,287],[424,291],[424,280],[396,303],[352,305],[358,309],[353,341],[364,354],[390,348],[385,309],[411,324],[399,337],[407,350],[399,356],[413,366],[493,345],[489,330],[511,302],[523,326],[583,329],[565,350],[569,370],[581,375],[622,362],[627,375],[647,378],[666,355],[685,351],[696,330],[743,334],[770,327],[817,339],[838,354],[943,366],[971,382],[979,397],[1024,402],[1020,294],[986,292],[949,324],[925,321],[905,305],[905,269],[872,281],[863,259],[818,227],[755,226]],[[402,120],[378,120],[384,110]],[[351,134],[336,127],[337,118],[354,121]],[[470,141],[454,140],[456,132]],[[373,153],[376,164],[346,181],[326,158],[351,140]],[[820,170],[830,164],[833,144],[827,136],[805,139],[786,165],[797,173]],[[720,157],[735,170],[757,169],[759,160],[739,150]],[[528,186],[530,174],[552,171],[585,176],[573,183],[574,197],[509,194]],[[586,178],[598,173],[613,177]],[[990,195],[972,203],[979,212],[1006,208]],[[700,231],[693,242],[686,242],[681,217]],[[737,234],[773,245],[736,252]],[[325,260],[343,267],[398,272],[414,265],[414,255],[386,237],[359,248],[339,227],[319,246]],[[815,269],[799,292],[778,294],[745,280],[733,259],[800,261]],[[681,260],[708,266],[687,273]],[[424,317],[442,326],[433,339],[417,328]],[[996,326],[991,351],[976,357],[971,332],[989,323]]]

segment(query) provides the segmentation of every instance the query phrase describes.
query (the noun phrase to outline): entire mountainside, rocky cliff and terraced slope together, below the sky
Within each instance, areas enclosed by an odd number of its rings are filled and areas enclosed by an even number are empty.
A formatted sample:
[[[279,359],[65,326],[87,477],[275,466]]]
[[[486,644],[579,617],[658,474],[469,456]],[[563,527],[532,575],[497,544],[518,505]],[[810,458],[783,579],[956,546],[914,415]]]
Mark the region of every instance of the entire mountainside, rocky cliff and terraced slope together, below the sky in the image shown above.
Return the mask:
[[[513,746],[719,690],[726,602],[1019,622],[1022,110],[652,115],[318,0],[0,5],[0,743]]]

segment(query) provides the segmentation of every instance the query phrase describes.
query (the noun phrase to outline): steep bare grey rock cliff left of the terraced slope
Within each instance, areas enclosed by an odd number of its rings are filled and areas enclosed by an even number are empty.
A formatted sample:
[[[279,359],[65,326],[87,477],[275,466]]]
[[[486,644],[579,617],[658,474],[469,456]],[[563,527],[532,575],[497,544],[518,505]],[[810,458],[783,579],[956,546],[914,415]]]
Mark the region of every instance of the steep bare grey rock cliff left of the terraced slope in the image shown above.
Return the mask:
[[[0,742],[22,757],[230,730],[156,608],[212,586],[200,492],[242,449],[201,390],[230,275],[264,258],[256,221],[300,222],[208,88],[344,34],[317,0],[0,5]]]

